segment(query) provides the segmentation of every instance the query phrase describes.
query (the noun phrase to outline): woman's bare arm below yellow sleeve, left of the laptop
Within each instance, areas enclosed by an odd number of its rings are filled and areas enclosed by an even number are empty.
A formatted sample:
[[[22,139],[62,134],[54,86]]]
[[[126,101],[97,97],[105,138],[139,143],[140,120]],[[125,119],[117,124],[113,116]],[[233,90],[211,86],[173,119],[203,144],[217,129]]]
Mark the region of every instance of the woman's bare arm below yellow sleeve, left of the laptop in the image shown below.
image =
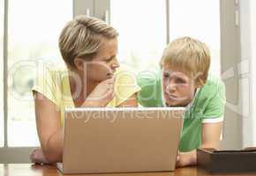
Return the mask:
[[[62,161],[63,128],[57,106],[39,92],[34,92],[36,127],[41,150],[49,163]]]

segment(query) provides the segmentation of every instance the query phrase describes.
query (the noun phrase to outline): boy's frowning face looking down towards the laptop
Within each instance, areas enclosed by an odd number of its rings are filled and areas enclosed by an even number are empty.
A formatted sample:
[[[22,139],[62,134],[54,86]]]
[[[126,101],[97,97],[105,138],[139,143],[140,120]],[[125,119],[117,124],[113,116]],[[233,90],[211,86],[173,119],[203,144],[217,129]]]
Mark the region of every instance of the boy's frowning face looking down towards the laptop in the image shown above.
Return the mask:
[[[196,91],[192,77],[183,71],[162,67],[162,90],[167,106],[187,106]]]

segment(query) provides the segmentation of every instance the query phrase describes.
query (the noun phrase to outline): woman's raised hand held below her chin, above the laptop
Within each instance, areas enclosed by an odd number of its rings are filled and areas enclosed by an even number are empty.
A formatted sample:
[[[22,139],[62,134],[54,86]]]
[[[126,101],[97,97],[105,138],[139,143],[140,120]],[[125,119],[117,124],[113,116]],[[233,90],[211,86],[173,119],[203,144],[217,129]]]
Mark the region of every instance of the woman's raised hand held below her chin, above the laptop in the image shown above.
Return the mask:
[[[84,105],[93,107],[104,107],[114,98],[115,77],[111,77],[98,84],[94,91],[89,94]]]

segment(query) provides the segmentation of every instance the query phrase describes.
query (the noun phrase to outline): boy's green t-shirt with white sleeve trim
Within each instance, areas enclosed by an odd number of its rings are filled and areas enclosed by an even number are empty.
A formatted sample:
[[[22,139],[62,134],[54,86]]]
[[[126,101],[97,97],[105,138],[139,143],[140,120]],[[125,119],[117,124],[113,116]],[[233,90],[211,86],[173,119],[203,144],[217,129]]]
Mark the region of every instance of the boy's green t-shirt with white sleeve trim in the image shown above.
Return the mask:
[[[139,104],[147,107],[165,106],[162,99],[161,71],[140,72],[137,81],[141,87]],[[180,151],[195,150],[201,145],[201,124],[223,121],[225,85],[217,77],[209,76],[207,83],[195,93],[186,106],[184,126],[179,144]]]

